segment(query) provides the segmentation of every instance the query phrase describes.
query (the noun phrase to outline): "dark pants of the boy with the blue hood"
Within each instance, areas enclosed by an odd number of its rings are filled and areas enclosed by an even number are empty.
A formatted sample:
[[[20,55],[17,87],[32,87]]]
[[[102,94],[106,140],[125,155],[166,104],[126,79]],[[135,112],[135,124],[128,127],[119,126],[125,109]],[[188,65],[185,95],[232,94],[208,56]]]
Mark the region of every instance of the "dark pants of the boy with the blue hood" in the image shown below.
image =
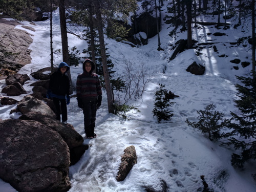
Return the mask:
[[[67,103],[66,99],[58,99],[53,97],[53,104],[54,104],[54,111],[56,114],[56,119],[60,121],[60,109],[61,109],[61,114],[62,114],[62,121],[67,121],[68,120],[68,112],[67,112]],[[60,105],[59,105],[60,103]]]

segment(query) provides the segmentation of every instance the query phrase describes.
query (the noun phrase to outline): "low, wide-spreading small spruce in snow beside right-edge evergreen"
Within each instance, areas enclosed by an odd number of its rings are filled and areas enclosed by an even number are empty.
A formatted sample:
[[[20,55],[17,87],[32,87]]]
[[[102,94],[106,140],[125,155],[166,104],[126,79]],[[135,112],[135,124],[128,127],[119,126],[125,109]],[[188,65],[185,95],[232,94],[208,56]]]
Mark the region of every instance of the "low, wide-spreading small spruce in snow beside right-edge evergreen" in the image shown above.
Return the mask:
[[[230,135],[229,133],[220,133],[221,130],[228,125],[229,120],[225,118],[223,119],[224,114],[215,111],[215,108],[216,106],[214,104],[209,104],[204,111],[197,111],[199,114],[197,117],[199,119],[198,122],[190,122],[186,119],[188,125],[200,130],[202,133],[207,133],[211,141],[217,141]]]

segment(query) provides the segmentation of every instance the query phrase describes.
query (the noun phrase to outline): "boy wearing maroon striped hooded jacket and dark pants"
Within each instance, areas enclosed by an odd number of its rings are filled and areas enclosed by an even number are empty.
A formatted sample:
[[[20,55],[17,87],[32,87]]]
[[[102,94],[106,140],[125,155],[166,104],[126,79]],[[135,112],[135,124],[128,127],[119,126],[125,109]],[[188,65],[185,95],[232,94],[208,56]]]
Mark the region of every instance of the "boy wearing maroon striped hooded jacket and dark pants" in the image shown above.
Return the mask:
[[[101,105],[102,91],[99,76],[93,73],[96,66],[90,59],[82,64],[83,73],[77,76],[76,95],[84,115],[84,133],[87,138],[96,138],[94,133],[96,111]]]

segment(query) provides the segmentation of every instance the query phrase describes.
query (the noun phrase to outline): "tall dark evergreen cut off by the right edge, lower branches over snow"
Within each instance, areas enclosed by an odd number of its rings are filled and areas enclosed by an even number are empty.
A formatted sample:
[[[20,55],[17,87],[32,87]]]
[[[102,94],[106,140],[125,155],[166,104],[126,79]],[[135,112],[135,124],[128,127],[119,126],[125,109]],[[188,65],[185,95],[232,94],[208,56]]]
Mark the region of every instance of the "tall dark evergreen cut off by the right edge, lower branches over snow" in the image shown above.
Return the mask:
[[[236,84],[238,100],[235,100],[240,114],[231,112],[233,122],[230,123],[232,134],[228,145],[233,145],[241,154],[233,154],[231,163],[235,167],[243,167],[249,159],[256,159],[256,74],[239,77],[244,86]]]

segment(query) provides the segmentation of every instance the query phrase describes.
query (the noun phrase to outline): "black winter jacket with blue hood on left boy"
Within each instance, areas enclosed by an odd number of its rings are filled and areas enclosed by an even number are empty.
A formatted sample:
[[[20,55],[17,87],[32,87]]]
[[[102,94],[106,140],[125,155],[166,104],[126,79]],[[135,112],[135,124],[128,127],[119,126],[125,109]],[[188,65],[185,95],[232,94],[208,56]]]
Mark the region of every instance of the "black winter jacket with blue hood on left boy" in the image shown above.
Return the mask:
[[[50,97],[56,97],[59,99],[64,99],[65,96],[69,96],[70,92],[70,81],[68,75],[60,72],[60,68],[66,66],[67,71],[70,70],[70,67],[66,62],[61,62],[56,72],[50,76],[49,89]]]

